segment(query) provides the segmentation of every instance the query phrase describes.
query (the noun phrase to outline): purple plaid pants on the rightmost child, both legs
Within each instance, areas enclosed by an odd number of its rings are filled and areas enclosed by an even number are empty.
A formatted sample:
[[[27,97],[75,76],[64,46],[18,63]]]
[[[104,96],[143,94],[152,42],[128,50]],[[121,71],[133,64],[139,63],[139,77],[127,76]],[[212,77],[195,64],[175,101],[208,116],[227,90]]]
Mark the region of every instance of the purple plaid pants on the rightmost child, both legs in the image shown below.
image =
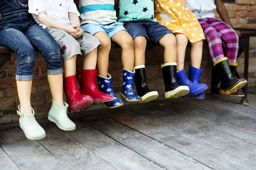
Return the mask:
[[[236,63],[239,42],[236,32],[226,23],[214,18],[204,18],[198,21],[208,42],[212,62],[226,56],[229,62]],[[226,45],[225,54],[222,42]]]

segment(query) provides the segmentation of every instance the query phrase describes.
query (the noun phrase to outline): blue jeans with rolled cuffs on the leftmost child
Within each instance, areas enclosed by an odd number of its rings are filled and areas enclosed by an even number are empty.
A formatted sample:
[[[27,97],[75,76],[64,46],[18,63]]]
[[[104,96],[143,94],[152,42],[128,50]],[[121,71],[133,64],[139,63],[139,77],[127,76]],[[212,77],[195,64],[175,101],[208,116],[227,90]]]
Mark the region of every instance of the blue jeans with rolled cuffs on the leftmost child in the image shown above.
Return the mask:
[[[17,54],[16,80],[32,80],[37,48],[44,56],[47,74],[62,74],[61,52],[52,36],[35,23],[27,10],[1,14],[0,45]]]

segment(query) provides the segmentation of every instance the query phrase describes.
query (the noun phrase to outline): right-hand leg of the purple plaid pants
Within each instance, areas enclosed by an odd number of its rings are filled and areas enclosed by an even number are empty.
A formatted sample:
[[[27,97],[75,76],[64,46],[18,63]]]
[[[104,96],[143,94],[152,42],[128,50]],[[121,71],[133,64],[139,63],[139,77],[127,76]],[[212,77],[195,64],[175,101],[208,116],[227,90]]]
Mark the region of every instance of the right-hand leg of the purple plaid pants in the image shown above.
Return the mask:
[[[221,40],[225,43],[225,56],[228,58],[228,61],[236,63],[239,42],[239,37],[236,34],[236,31],[226,23],[214,18],[212,18],[208,24],[218,32]]]

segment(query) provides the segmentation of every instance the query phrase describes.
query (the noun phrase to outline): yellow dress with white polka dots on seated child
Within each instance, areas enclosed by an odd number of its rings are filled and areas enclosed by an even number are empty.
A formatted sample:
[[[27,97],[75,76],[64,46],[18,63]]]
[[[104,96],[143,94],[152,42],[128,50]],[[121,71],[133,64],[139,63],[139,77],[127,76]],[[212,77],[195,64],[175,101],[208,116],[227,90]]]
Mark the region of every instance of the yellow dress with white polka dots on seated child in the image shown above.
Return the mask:
[[[186,35],[190,42],[205,40],[204,31],[184,0],[155,0],[154,17],[174,33]]]

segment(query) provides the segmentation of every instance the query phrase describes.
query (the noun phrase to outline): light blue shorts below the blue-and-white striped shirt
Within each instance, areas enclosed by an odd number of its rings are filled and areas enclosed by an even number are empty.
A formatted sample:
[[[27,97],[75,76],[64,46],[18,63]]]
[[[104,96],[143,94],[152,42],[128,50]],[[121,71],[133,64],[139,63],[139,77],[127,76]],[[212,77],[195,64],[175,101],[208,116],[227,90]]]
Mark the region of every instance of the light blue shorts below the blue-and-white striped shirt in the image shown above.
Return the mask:
[[[117,32],[125,30],[123,23],[110,23],[108,25],[99,25],[94,23],[87,23],[81,26],[84,31],[90,32],[92,35],[97,32],[105,32],[111,38]],[[125,30],[126,31],[126,30]]]

